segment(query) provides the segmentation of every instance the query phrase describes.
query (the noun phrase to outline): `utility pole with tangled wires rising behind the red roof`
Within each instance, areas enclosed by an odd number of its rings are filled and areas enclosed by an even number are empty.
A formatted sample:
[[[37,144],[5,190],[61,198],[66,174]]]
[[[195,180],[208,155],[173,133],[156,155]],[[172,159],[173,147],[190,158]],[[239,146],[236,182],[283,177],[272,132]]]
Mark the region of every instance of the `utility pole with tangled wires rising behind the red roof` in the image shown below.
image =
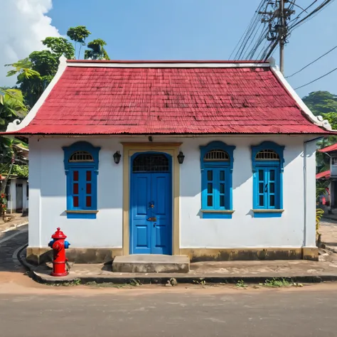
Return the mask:
[[[284,45],[287,43],[288,21],[295,11],[286,8],[285,4],[294,4],[290,0],[266,0],[266,11],[262,14],[261,22],[269,26],[267,40],[279,43],[279,70],[284,73]],[[267,11],[269,9],[269,11]]]

